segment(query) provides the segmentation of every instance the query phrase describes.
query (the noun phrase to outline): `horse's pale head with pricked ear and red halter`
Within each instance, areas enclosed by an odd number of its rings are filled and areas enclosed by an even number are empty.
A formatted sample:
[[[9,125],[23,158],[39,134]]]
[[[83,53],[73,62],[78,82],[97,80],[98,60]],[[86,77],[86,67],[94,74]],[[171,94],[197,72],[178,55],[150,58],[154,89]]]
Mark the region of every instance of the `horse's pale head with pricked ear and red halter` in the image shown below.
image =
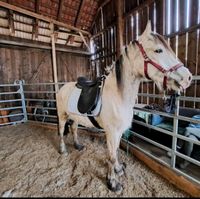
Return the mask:
[[[136,41],[136,48],[144,60],[144,68],[139,67],[139,73],[152,79],[160,90],[183,91],[190,86],[192,74],[176,57],[164,37],[152,32],[150,21]]]

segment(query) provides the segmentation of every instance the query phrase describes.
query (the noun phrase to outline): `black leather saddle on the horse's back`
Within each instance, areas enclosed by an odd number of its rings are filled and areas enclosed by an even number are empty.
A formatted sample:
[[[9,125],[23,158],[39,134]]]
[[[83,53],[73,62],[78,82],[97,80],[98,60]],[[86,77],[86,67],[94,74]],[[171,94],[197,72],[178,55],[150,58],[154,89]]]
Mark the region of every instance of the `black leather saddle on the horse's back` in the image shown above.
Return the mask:
[[[101,79],[88,80],[85,77],[78,77],[76,87],[82,89],[78,110],[80,113],[91,113],[97,105],[100,96]]]

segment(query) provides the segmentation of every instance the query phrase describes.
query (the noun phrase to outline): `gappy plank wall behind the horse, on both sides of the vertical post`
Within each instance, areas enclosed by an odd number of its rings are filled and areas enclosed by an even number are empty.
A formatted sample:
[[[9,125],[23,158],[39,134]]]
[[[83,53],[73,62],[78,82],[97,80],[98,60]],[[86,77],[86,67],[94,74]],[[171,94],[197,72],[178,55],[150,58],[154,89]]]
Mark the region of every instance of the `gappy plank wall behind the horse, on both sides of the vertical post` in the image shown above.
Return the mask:
[[[116,13],[113,15],[114,17],[111,15],[111,10],[115,6],[113,3],[114,2],[111,0],[102,8],[103,25],[101,21],[101,12],[99,12],[93,27],[93,34],[96,35],[94,37],[94,42],[98,47],[96,48],[94,62],[97,64],[97,60],[100,60],[98,64],[100,65],[101,73],[105,66],[111,64],[111,61],[116,59],[116,40],[118,38],[116,34]],[[123,0],[123,3],[124,45],[137,39],[144,31],[148,19],[150,19],[153,31],[155,30],[159,34],[165,35],[178,58],[189,68],[192,74],[194,76],[200,75],[199,0]],[[170,13],[168,13],[169,5]],[[186,11],[187,7],[189,10],[188,16]],[[188,27],[186,27],[187,20],[189,21]],[[112,35],[111,28],[114,28],[114,34]],[[104,38],[104,44],[102,38]],[[114,51],[111,50],[112,41],[115,41]],[[115,53],[115,55],[113,56],[112,53]],[[193,81],[184,95],[186,97],[199,97],[200,92],[197,91],[199,84],[199,80]],[[155,84],[150,82],[142,83],[139,92],[160,94]],[[171,94],[171,92],[168,92],[168,94]],[[138,102],[146,104],[163,103],[162,100],[152,97],[139,97]],[[200,103],[183,101],[181,102],[181,106],[200,108]]]

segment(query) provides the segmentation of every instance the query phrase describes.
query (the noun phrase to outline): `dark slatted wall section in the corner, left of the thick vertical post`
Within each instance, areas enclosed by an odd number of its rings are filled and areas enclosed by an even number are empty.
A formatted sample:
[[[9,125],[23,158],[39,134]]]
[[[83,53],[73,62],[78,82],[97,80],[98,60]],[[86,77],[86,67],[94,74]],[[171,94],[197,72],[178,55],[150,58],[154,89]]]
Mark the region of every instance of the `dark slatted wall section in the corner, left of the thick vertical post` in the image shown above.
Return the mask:
[[[104,74],[104,68],[112,64],[117,53],[116,1],[109,1],[97,15],[92,29],[95,43],[93,66],[96,74]]]

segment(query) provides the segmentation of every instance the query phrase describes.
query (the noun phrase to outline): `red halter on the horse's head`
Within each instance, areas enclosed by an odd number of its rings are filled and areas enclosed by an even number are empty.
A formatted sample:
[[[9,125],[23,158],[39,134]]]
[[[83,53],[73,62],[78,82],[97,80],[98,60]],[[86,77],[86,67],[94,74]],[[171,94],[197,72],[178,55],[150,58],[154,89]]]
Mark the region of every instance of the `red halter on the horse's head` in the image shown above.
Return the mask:
[[[164,88],[164,90],[166,90],[166,89],[167,89],[167,76],[166,76],[166,74],[167,74],[168,72],[176,71],[178,68],[180,68],[181,66],[183,66],[183,64],[182,64],[182,63],[178,63],[178,64],[176,64],[175,66],[172,66],[170,69],[166,70],[166,69],[164,69],[161,65],[155,63],[154,61],[152,61],[152,60],[147,56],[147,54],[146,54],[146,52],[145,52],[145,50],[144,50],[142,44],[140,44],[138,41],[135,41],[135,43],[136,43],[137,46],[139,47],[140,52],[142,53],[142,56],[144,57],[144,74],[145,74],[146,78],[151,80],[151,78],[150,78],[149,75],[148,75],[148,68],[147,68],[147,67],[148,67],[148,64],[151,64],[151,65],[153,65],[154,67],[156,67],[159,71],[161,71],[162,73],[165,74],[164,79],[163,79],[163,88]]]

